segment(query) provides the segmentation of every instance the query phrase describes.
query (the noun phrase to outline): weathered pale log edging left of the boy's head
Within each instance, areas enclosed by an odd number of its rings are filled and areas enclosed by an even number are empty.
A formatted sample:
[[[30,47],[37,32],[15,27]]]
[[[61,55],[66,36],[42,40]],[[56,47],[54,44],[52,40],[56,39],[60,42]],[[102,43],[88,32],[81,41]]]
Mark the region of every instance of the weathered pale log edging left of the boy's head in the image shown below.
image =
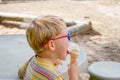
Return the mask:
[[[0,24],[6,27],[25,29],[37,16],[0,12]]]

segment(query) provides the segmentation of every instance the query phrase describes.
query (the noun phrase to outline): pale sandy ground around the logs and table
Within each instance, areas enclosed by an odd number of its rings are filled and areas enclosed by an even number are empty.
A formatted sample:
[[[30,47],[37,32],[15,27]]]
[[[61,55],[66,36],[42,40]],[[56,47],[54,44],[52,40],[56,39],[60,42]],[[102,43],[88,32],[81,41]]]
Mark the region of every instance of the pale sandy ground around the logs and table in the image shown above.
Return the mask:
[[[65,20],[92,22],[92,29],[72,37],[87,53],[88,66],[94,62],[120,62],[120,0],[41,0],[0,4],[0,12],[57,15]],[[0,35],[25,34],[24,29],[0,26]],[[88,80],[85,71],[81,80]]]

